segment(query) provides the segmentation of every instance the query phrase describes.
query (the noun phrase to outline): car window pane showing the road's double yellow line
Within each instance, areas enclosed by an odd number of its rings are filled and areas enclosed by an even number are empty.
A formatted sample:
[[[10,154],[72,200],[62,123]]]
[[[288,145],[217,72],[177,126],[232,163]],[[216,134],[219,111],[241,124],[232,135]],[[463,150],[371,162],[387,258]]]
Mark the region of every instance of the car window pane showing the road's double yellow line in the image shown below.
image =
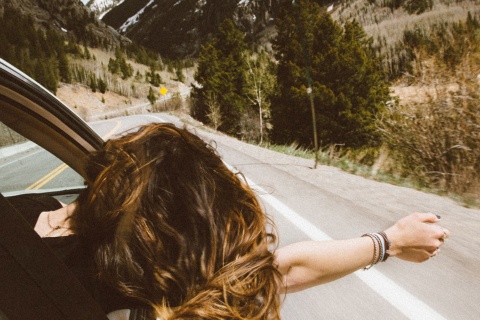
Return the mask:
[[[83,188],[84,179],[47,150],[0,122],[0,191],[17,194]]]

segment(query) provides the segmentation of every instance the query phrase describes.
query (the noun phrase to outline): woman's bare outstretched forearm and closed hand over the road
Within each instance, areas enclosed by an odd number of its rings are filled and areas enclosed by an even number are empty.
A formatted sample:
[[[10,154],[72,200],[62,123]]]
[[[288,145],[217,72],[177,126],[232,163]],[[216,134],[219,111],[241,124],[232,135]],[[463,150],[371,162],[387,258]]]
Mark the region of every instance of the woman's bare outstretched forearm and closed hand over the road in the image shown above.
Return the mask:
[[[432,213],[414,213],[397,221],[385,230],[390,242],[389,256],[423,262],[438,254],[438,248],[450,235],[447,229],[436,224],[438,221],[439,217]],[[305,241],[278,249],[275,259],[283,275],[282,292],[304,290],[372,265],[381,250],[376,239],[363,236]]]

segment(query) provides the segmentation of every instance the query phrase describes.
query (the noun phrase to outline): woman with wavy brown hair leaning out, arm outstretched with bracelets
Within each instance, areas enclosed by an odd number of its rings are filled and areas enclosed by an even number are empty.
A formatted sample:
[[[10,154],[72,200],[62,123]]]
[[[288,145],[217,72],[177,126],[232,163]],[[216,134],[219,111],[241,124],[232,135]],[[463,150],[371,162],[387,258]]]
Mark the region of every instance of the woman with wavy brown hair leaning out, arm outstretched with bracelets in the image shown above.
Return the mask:
[[[414,214],[385,233],[276,250],[271,221],[252,190],[209,145],[170,124],[108,141],[86,171],[88,187],[75,204],[42,212],[35,230],[46,241],[75,239],[73,254],[82,252],[82,259],[67,265],[106,312],[278,319],[281,292],[337,279],[388,255],[424,261],[449,235],[434,224],[435,215]]]

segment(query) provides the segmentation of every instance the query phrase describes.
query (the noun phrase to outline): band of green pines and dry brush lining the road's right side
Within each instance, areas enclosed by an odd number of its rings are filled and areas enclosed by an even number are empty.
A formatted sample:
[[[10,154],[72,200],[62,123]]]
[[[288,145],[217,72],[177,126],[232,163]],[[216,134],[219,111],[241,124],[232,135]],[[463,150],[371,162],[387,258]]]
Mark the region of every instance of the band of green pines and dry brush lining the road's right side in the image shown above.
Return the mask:
[[[432,1],[367,5],[412,19],[433,8]],[[339,24],[315,2],[288,2],[276,19],[270,60],[258,63],[266,51],[249,51],[227,21],[202,48],[192,116],[240,139],[313,159],[315,114],[319,163],[478,205],[478,18],[470,13],[423,26],[410,24],[396,44],[401,51],[389,47],[391,55],[382,55],[382,42],[355,20]],[[248,61],[256,61],[256,69]],[[247,99],[252,84],[261,103]],[[400,100],[393,86],[415,88],[423,97]]]

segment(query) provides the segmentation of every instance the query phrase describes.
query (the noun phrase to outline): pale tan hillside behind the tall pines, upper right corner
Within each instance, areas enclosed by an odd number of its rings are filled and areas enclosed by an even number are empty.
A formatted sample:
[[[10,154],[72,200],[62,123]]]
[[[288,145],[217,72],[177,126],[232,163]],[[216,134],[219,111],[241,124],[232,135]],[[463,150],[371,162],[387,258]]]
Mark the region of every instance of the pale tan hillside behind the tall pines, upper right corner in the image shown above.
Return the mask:
[[[435,38],[443,29],[443,41],[455,40],[455,24],[479,13],[477,0],[344,0],[335,6],[332,17],[340,24],[356,20],[372,37],[373,47],[394,79],[412,71],[412,34]]]

